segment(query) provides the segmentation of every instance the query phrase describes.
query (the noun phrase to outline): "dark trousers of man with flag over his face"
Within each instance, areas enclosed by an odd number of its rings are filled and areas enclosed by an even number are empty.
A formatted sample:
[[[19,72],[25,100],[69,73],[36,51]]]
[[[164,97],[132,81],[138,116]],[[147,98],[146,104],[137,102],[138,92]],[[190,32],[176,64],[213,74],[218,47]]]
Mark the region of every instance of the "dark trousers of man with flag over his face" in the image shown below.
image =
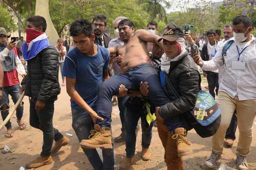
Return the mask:
[[[46,102],[45,108],[38,112],[35,110],[35,104],[36,99],[31,99],[29,123],[32,127],[42,131],[44,144],[42,145],[41,156],[48,157],[51,155],[53,139],[58,141],[63,135],[53,128],[54,101]]]

